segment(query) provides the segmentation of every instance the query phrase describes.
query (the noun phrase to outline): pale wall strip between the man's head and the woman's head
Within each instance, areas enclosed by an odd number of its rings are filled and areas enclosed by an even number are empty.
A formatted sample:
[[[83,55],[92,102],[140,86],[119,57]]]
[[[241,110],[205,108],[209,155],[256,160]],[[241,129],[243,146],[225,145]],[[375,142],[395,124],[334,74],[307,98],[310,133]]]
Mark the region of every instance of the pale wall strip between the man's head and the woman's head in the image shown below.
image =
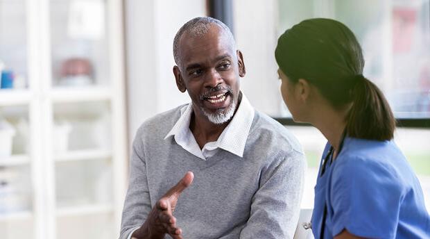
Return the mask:
[[[241,81],[251,104],[269,115],[283,106],[277,80],[277,1],[234,0],[234,36],[243,53],[246,76]]]

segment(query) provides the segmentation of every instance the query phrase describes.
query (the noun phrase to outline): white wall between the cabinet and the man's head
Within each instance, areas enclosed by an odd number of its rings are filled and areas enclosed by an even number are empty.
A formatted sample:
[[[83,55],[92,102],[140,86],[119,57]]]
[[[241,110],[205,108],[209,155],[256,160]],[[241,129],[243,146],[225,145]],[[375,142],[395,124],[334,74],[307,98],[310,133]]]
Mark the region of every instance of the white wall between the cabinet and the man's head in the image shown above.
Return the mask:
[[[173,38],[185,22],[206,15],[201,0],[126,1],[129,138],[148,117],[189,102],[173,76]]]

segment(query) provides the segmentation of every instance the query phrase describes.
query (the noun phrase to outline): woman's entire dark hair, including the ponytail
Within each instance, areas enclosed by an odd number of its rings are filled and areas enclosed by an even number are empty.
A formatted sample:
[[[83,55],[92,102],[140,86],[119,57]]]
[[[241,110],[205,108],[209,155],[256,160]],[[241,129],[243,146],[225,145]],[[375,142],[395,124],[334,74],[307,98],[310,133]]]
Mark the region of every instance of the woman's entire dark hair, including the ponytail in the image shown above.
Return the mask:
[[[363,76],[363,53],[347,26],[333,19],[304,20],[279,37],[275,58],[291,81],[305,79],[315,85],[334,108],[352,103],[347,135],[393,138],[393,112],[381,90]]]

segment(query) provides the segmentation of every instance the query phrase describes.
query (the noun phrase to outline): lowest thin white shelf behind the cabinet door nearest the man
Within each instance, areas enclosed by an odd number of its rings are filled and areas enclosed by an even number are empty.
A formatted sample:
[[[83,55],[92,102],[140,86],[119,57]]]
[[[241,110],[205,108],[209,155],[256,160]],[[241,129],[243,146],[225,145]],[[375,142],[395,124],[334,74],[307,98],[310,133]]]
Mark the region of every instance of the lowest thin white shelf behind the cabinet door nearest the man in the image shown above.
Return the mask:
[[[94,215],[112,213],[114,206],[112,204],[88,204],[84,206],[67,206],[57,209],[58,217],[71,217],[81,215]]]

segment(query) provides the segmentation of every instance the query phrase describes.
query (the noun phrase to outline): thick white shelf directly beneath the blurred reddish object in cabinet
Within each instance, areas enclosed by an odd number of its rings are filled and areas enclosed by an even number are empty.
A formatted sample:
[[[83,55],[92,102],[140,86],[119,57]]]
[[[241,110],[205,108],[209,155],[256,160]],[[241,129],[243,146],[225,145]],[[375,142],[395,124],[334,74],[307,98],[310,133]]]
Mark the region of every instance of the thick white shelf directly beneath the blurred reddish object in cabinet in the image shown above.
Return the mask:
[[[55,87],[51,97],[55,103],[105,101],[112,98],[112,90],[105,86]]]

